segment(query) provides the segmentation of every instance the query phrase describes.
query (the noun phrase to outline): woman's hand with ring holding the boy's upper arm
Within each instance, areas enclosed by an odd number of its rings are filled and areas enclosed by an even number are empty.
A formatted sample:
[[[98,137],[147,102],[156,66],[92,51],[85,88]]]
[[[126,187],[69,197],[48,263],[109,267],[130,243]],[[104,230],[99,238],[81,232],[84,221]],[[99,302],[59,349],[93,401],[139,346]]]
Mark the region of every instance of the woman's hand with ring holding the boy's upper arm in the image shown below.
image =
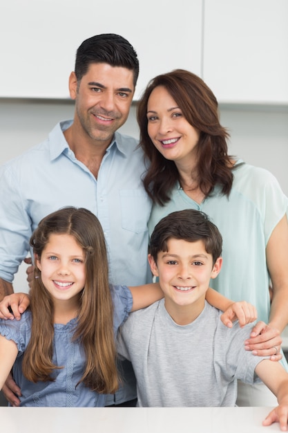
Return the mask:
[[[276,328],[265,322],[258,322],[253,327],[250,338],[245,341],[245,350],[252,351],[256,356],[270,356],[272,361],[282,359],[280,347],[282,338]]]

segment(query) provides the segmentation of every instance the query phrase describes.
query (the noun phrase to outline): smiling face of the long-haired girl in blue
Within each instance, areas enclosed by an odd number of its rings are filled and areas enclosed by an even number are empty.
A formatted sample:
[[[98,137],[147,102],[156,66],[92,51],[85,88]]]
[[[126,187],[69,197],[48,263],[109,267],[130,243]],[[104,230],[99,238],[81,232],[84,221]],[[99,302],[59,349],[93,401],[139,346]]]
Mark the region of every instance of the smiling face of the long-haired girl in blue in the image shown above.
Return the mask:
[[[86,279],[84,250],[70,234],[50,234],[36,265],[54,300],[78,299]]]

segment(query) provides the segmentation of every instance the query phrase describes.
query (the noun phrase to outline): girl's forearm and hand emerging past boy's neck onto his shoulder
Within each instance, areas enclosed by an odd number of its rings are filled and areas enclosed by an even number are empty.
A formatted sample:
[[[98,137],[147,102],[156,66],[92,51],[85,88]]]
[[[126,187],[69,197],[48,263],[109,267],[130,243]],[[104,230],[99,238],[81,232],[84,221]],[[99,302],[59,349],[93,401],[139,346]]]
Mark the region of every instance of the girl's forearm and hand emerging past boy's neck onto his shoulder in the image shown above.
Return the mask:
[[[231,328],[234,320],[238,320],[240,326],[244,326],[245,324],[254,322],[254,320],[257,319],[255,306],[246,301],[233,302],[213,290],[213,288],[208,288],[206,292],[206,300],[209,304],[218,308],[218,310],[224,311],[221,320],[224,325],[229,328]]]

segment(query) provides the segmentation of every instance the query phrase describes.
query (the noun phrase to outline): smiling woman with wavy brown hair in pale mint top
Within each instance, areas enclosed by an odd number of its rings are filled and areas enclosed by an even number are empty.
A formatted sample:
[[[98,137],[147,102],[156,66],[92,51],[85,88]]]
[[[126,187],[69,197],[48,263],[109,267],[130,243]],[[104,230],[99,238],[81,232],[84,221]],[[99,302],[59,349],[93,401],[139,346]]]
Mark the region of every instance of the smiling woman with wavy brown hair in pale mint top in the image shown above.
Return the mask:
[[[246,348],[279,360],[279,335],[287,325],[288,309],[288,199],[276,178],[228,155],[229,134],[220,125],[218,102],[189,71],[151,80],[139,102],[137,121],[149,162],[144,186],[154,202],[150,232],[175,210],[207,213],[223,237],[222,272],[211,286],[256,306],[260,335]],[[263,387],[259,393],[243,389],[241,395],[247,392],[251,399],[238,394],[238,405],[275,404],[264,397]]]

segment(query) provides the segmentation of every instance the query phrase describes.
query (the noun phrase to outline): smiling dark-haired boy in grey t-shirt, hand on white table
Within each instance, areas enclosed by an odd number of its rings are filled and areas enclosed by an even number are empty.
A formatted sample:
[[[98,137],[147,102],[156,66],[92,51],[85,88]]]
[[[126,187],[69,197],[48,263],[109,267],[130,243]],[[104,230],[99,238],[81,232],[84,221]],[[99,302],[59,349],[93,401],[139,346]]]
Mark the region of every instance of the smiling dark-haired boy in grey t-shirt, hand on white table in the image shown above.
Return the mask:
[[[259,380],[278,397],[264,421],[287,428],[288,374],[278,362],[244,350],[251,326],[228,329],[205,301],[222,266],[222,237],[206,214],[173,212],[155,226],[148,261],[164,299],[128,317],[119,354],[131,360],[138,406],[234,406],[237,379]],[[204,356],[202,356],[204,353]]]

